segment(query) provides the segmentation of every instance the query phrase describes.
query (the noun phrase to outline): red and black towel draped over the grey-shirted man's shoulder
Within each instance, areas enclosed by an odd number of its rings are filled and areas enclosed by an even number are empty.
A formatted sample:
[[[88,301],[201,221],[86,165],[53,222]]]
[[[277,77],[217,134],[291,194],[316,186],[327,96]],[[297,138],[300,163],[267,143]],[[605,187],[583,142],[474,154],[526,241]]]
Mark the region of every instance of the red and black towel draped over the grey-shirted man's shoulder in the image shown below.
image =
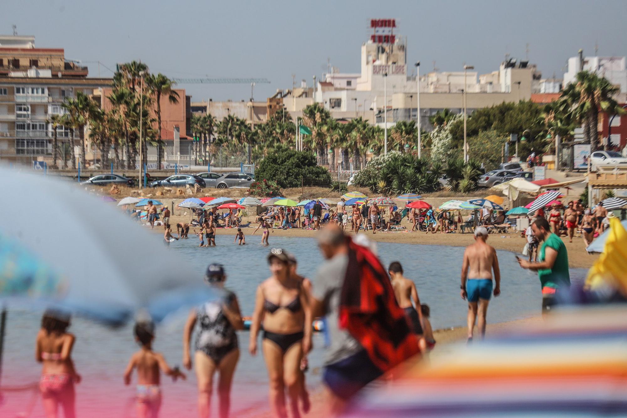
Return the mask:
[[[359,341],[372,363],[387,372],[419,353],[418,340],[381,261],[350,237],[346,240],[349,265],[340,294],[339,326]]]

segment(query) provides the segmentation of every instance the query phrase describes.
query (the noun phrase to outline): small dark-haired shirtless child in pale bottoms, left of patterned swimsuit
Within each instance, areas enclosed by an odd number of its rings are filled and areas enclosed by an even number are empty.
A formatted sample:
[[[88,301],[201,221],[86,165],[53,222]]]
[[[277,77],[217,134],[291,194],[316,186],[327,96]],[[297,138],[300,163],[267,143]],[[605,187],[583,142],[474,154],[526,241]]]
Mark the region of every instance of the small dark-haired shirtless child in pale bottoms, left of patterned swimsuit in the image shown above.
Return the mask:
[[[171,369],[161,353],[152,351],[154,340],[154,324],[138,322],[135,324],[135,340],[142,348],[131,356],[129,365],[124,372],[124,383],[130,385],[130,375],[137,368],[137,416],[140,418],[157,418],[161,408],[161,389],[159,388],[161,369],[176,382],[178,377],[186,379],[184,373],[176,367]]]

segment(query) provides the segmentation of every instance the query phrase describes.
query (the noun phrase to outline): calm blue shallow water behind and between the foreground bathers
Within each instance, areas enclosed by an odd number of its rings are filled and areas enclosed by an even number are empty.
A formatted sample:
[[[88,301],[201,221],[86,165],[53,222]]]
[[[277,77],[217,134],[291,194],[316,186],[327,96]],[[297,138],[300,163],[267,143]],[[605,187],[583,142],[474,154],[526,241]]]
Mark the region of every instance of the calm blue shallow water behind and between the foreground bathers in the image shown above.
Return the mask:
[[[228,274],[226,287],[234,291],[243,314],[250,315],[255,303],[256,286],[268,277],[266,255],[268,248],[258,242],[261,236],[246,237],[248,244],[233,244],[233,237],[218,235],[218,247],[199,248],[198,240],[189,238],[171,244],[171,251],[198,271],[199,280],[211,262],[224,264]],[[313,238],[270,237],[270,247],[293,252],[303,276],[314,277],[323,262]],[[421,303],[431,307],[434,329],[464,325],[466,303],[460,298],[460,271],[463,249],[435,245],[377,243],[384,265],[394,260],[403,264],[407,277],[414,279]],[[501,296],[490,302],[490,322],[525,318],[540,312],[540,284],[537,275],[520,269],[514,254],[498,251],[502,274]],[[582,271],[573,271],[582,276]],[[314,281],[315,286],[315,281]],[[181,365],[182,326],[186,313],[176,315],[157,328],[154,349],[166,356],[170,365]],[[34,361],[34,338],[38,331],[40,313],[9,310],[6,345],[3,360],[3,387],[36,382],[40,365]],[[122,374],[130,355],[137,350],[132,338],[132,324],[112,329],[75,318],[70,330],[76,335],[73,357],[83,382],[76,387],[78,416],[133,417],[133,387],[125,387]],[[322,335],[314,335],[314,350],[310,354],[309,385],[319,383],[324,351]],[[248,331],[240,333],[240,362],[235,373],[232,395],[232,415],[251,416],[266,409],[267,377],[263,355],[248,353]],[[187,373],[186,382],[162,380],[164,402],[162,417],[189,417],[196,415],[196,379]],[[0,407],[3,417],[14,416],[26,410],[32,392],[5,392],[5,403]],[[38,400],[33,417],[42,417]]]

